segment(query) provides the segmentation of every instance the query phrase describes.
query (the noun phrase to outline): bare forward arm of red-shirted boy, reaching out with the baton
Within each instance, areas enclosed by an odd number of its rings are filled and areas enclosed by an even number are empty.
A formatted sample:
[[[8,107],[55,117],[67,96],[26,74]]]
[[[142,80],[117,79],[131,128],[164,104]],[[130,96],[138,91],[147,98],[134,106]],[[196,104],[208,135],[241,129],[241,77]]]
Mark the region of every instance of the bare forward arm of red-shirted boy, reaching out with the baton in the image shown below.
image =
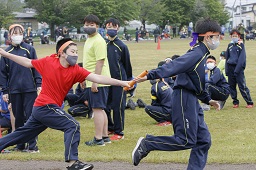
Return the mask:
[[[113,85],[113,86],[122,86],[122,87],[130,87],[129,86],[129,81],[121,81],[117,79],[113,79],[107,76],[102,76],[99,74],[94,74],[90,73],[87,77],[86,80],[99,83],[99,84],[108,84],[108,85]]]

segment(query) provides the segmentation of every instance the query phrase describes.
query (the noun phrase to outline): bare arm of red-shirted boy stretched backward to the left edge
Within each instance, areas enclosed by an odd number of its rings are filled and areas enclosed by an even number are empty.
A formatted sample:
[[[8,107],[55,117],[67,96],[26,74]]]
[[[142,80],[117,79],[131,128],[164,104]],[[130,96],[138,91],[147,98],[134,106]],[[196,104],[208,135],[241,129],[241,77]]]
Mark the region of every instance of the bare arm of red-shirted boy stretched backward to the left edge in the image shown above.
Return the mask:
[[[8,53],[2,48],[0,48],[0,55],[2,55],[3,57],[9,58],[10,60],[12,60],[24,67],[33,68],[33,65],[31,64],[31,60],[26,57],[21,57],[18,55]]]

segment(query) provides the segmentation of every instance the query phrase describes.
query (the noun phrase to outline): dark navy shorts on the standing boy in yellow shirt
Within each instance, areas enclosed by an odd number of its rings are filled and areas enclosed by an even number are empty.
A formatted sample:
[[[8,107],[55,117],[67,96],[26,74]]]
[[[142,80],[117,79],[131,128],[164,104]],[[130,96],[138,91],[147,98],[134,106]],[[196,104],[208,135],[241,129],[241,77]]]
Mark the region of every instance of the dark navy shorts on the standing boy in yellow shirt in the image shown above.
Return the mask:
[[[89,88],[89,106],[93,108],[105,109],[108,100],[108,86],[98,87],[98,92],[94,93]]]

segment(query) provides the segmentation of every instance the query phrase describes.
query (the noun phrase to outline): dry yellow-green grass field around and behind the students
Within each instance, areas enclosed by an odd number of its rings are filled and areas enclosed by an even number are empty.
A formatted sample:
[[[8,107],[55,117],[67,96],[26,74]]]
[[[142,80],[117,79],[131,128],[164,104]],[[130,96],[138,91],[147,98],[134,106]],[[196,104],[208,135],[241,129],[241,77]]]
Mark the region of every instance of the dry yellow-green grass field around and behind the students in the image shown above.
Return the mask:
[[[160,60],[174,54],[182,55],[189,49],[189,39],[163,40],[161,49],[156,50],[157,44],[153,41],[139,43],[127,42],[131,54],[133,74],[137,75],[143,70],[150,70],[157,66]],[[220,47],[212,51],[217,59],[222,50],[226,50],[229,39],[221,41]],[[246,41],[247,67],[245,71],[247,86],[251,95],[256,100],[255,90],[255,41]],[[55,45],[35,45],[39,58],[55,51]],[[79,61],[82,61],[83,42],[78,43]],[[133,99],[143,99],[150,104],[149,82],[138,85],[136,96]],[[241,95],[240,108],[233,109],[229,98],[225,108],[219,112],[214,109],[205,112],[205,121],[212,135],[212,147],[209,150],[208,163],[256,163],[256,135],[255,135],[255,108],[246,109],[246,103]],[[112,142],[105,147],[88,147],[84,142],[94,135],[93,120],[76,118],[81,125],[81,141],[79,157],[86,161],[131,161],[131,152],[140,136],[146,134],[172,135],[172,126],[158,127],[156,122],[144,112],[144,109],[126,110],[125,139]],[[39,135],[38,146],[40,154],[11,153],[0,154],[0,159],[15,160],[64,160],[63,133],[47,129]],[[143,162],[161,163],[187,163],[190,150],[179,152],[152,152],[143,159]]]

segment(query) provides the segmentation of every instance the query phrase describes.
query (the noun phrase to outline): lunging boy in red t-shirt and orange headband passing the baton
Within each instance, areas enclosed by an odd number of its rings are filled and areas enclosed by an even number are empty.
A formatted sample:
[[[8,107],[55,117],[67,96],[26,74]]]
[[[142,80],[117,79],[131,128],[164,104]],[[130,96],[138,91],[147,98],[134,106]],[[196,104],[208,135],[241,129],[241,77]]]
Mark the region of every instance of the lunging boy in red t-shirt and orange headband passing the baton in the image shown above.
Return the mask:
[[[77,46],[70,38],[60,40],[56,50],[58,54],[31,60],[7,53],[0,48],[0,55],[24,67],[34,67],[43,77],[42,91],[34,103],[32,115],[23,127],[0,139],[0,150],[17,143],[27,142],[50,127],[64,132],[65,161],[70,163],[67,169],[90,170],[93,168],[92,164],[84,164],[78,160],[80,125],[60,108],[62,102],[70,88],[85,79],[115,86],[129,85],[128,82],[90,73],[79,67],[76,64]]]

